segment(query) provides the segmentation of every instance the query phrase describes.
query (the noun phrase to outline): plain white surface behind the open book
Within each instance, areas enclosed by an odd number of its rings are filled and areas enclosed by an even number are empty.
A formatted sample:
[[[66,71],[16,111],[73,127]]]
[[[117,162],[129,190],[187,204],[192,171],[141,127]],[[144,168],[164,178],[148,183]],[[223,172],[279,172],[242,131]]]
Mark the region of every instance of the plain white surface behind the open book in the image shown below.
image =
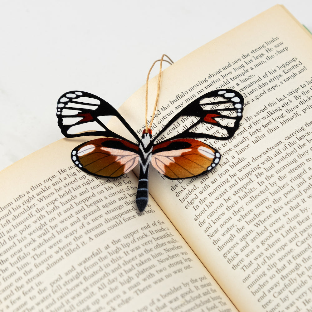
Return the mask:
[[[163,53],[176,61],[275,4],[0,0],[0,170],[62,138],[64,92],[88,91],[118,108]],[[312,29],[311,0],[281,4]]]

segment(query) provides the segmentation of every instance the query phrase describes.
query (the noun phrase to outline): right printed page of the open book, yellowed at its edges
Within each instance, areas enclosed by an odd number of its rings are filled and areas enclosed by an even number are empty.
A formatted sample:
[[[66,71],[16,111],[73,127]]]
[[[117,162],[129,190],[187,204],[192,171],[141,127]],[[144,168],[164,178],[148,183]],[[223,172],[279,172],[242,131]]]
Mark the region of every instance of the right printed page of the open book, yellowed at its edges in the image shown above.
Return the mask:
[[[311,49],[311,35],[275,6],[163,72],[153,134],[208,91],[245,99],[232,139],[209,140],[222,154],[211,173],[150,173],[150,193],[240,311],[312,307]],[[141,131],[137,102],[144,112],[143,88],[120,112]]]

